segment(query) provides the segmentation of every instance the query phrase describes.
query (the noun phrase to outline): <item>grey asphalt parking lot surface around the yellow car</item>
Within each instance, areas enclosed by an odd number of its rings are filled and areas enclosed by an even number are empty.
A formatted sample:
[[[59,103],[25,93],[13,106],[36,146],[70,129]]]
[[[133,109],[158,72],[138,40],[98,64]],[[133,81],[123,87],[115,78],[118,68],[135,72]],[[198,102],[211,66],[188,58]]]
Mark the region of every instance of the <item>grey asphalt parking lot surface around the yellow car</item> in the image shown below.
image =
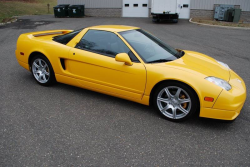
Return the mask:
[[[152,108],[64,84],[42,87],[16,61],[21,33],[139,26],[175,48],[227,63],[250,94],[250,30],[150,18],[23,16],[0,26],[0,166],[250,166],[250,99],[232,123],[173,123]]]

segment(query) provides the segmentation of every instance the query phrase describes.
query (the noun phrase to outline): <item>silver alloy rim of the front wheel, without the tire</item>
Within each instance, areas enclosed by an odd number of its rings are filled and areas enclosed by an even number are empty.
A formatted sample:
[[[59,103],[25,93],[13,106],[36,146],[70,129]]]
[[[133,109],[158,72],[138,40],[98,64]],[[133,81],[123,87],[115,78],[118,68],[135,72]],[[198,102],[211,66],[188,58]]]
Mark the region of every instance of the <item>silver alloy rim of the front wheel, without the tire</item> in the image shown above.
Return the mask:
[[[157,96],[157,106],[163,115],[171,119],[184,118],[191,110],[191,98],[180,87],[168,86]]]

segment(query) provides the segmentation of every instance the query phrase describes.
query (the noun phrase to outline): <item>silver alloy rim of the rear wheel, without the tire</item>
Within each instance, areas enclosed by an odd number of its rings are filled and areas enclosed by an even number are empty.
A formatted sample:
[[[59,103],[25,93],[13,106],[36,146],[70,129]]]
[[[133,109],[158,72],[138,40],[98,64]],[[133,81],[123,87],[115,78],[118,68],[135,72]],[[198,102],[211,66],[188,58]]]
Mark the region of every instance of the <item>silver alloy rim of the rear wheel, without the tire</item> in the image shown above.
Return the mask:
[[[48,64],[38,58],[32,64],[32,73],[36,80],[40,83],[46,83],[49,81],[50,71]]]

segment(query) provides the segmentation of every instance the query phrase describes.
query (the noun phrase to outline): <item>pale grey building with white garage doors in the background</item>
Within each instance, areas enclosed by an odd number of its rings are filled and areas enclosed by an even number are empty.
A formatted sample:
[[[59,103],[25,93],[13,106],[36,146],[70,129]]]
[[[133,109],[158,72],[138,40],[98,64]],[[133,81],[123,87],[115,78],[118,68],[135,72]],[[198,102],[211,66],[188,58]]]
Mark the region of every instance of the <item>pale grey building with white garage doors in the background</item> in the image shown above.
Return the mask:
[[[58,4],[84,4],[87,16],[150,17],[152,0],[58,0]],[[168,0],[166,0],[168,1]],[[219,4],[242,9],[241,19],[250,21],[250,0],[177,0],[180,18],[213,18]]]

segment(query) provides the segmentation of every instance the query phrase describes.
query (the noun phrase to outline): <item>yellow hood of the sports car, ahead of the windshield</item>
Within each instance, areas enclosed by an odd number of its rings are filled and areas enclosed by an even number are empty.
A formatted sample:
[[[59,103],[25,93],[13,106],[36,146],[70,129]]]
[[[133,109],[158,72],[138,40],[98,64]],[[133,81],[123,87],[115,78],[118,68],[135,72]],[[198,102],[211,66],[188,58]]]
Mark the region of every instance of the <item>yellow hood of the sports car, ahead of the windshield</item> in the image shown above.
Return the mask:
[[[168,66],[180,69],[189,69],[195,72],[202,73],[206,76],[214,76],[217,78],[229,81],[230,72],[229,69],[219,64],[215,59],[204,55],[202,53],[187,51],[181,58],[167,62],[154,64],[157,66]]]

